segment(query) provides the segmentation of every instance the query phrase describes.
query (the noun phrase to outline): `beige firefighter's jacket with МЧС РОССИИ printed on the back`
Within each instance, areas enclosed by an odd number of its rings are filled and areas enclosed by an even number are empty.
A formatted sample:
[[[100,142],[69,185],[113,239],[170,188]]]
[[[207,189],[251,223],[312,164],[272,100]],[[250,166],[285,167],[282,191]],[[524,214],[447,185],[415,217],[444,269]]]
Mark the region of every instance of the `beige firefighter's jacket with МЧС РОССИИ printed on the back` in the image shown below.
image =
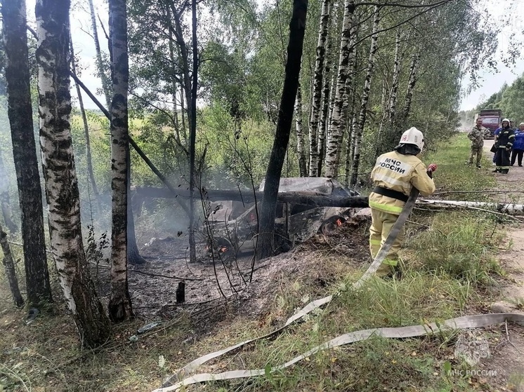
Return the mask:
[[[417,156],[403,155],[397,151],[376,158],[371,178],[376,187],[400,192],[406,198],[410,195],[412,187],[417,188],[422,196],[429,196],[435,191],[435,182],[426,173],[424,163]],[[384,196],[374,191],[369,194],[369,207],[376,210],[400,215],[404,205],[405,201],[399,198]]]

